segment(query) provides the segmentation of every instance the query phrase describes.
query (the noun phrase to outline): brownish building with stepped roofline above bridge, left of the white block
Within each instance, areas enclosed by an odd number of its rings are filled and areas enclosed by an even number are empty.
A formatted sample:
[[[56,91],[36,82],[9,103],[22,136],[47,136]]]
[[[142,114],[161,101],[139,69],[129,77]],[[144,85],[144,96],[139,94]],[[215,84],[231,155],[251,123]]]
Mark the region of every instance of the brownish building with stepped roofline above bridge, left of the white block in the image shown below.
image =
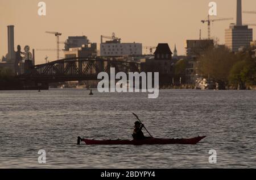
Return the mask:
[[[69,48],[64,51],[65,58],[72,57],[96,57],[97,56],[97,43],[82,45],[82,47]]]

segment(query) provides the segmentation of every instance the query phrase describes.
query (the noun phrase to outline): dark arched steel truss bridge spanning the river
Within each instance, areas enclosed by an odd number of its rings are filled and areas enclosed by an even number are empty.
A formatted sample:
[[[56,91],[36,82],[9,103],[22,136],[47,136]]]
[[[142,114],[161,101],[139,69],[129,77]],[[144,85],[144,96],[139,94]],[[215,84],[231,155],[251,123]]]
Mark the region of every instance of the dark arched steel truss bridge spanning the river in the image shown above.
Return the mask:
[[[36,83],[97,80],[98,73],[110,74],[110,68],[115,68],[116,73],[141,72],[141,65],[138,62],[115,58],[74,57],[32,66],[18,78],[21,81]]]

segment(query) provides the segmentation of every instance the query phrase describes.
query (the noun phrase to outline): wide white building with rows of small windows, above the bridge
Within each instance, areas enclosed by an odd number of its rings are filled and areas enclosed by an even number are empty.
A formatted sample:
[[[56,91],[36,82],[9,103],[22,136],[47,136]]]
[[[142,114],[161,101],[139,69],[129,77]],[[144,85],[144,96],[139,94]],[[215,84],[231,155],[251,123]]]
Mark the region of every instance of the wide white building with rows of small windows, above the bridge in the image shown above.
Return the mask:
[[[114,57],[114,56],[125,56],[142,55],[142,44],[141,43],[121,43],[121,41],[111,40],[101,43],[100,45],[100,55],[104,57]]]

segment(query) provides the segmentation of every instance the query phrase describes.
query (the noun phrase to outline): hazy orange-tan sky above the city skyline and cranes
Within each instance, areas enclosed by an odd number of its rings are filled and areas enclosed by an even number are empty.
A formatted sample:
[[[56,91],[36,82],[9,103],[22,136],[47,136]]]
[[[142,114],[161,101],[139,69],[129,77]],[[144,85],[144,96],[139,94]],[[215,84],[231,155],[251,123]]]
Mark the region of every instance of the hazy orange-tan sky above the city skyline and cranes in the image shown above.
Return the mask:
[[[122,42],[138,42],[143,46],[168,43],[179,55],[185,53],[186,39],[199,39],[199,30],[207,38],[207,24],[201,20],[208,15],[208,0],[44,0],[47,16],[38,15],[38,0],[0,0],[0,56],[7,53],[7,26],[15,26],[16,45],[30,45],[31,49],[56,48],[54,35],[86,35],[92,42],[100,43],[100,35],[115,32]],[[224,30],[236,22],[236,0],[216,0],[217,17],[234,20],[215,22],[212,36],[224,43]],[[243,10],[256,11],[255,0],[243,0]],[[256,14],[243,14],[243,23],[256,23]],[[255,35],[255,27],[254,35]],[[254,36],[255,37],[255,36]],[[64,45],[61,45],[64,48]],[[44,57],[56,60],[56,52],[36,51],[36,64]],[[63,53],[60,53],[63,57]]]

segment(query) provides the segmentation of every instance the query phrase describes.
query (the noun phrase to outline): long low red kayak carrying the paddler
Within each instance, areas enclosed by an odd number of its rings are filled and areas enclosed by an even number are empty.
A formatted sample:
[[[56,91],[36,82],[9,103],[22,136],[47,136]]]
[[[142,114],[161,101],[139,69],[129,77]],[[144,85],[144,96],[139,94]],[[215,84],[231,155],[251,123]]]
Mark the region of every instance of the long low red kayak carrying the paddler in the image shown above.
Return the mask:
[[[83,141],[87,145],[152,145],[152,144],[197,144],[206,136],[198,136],[191,139],[158,139],[150,137],[143,140],[89,140],[78,137],[77,144]]]

